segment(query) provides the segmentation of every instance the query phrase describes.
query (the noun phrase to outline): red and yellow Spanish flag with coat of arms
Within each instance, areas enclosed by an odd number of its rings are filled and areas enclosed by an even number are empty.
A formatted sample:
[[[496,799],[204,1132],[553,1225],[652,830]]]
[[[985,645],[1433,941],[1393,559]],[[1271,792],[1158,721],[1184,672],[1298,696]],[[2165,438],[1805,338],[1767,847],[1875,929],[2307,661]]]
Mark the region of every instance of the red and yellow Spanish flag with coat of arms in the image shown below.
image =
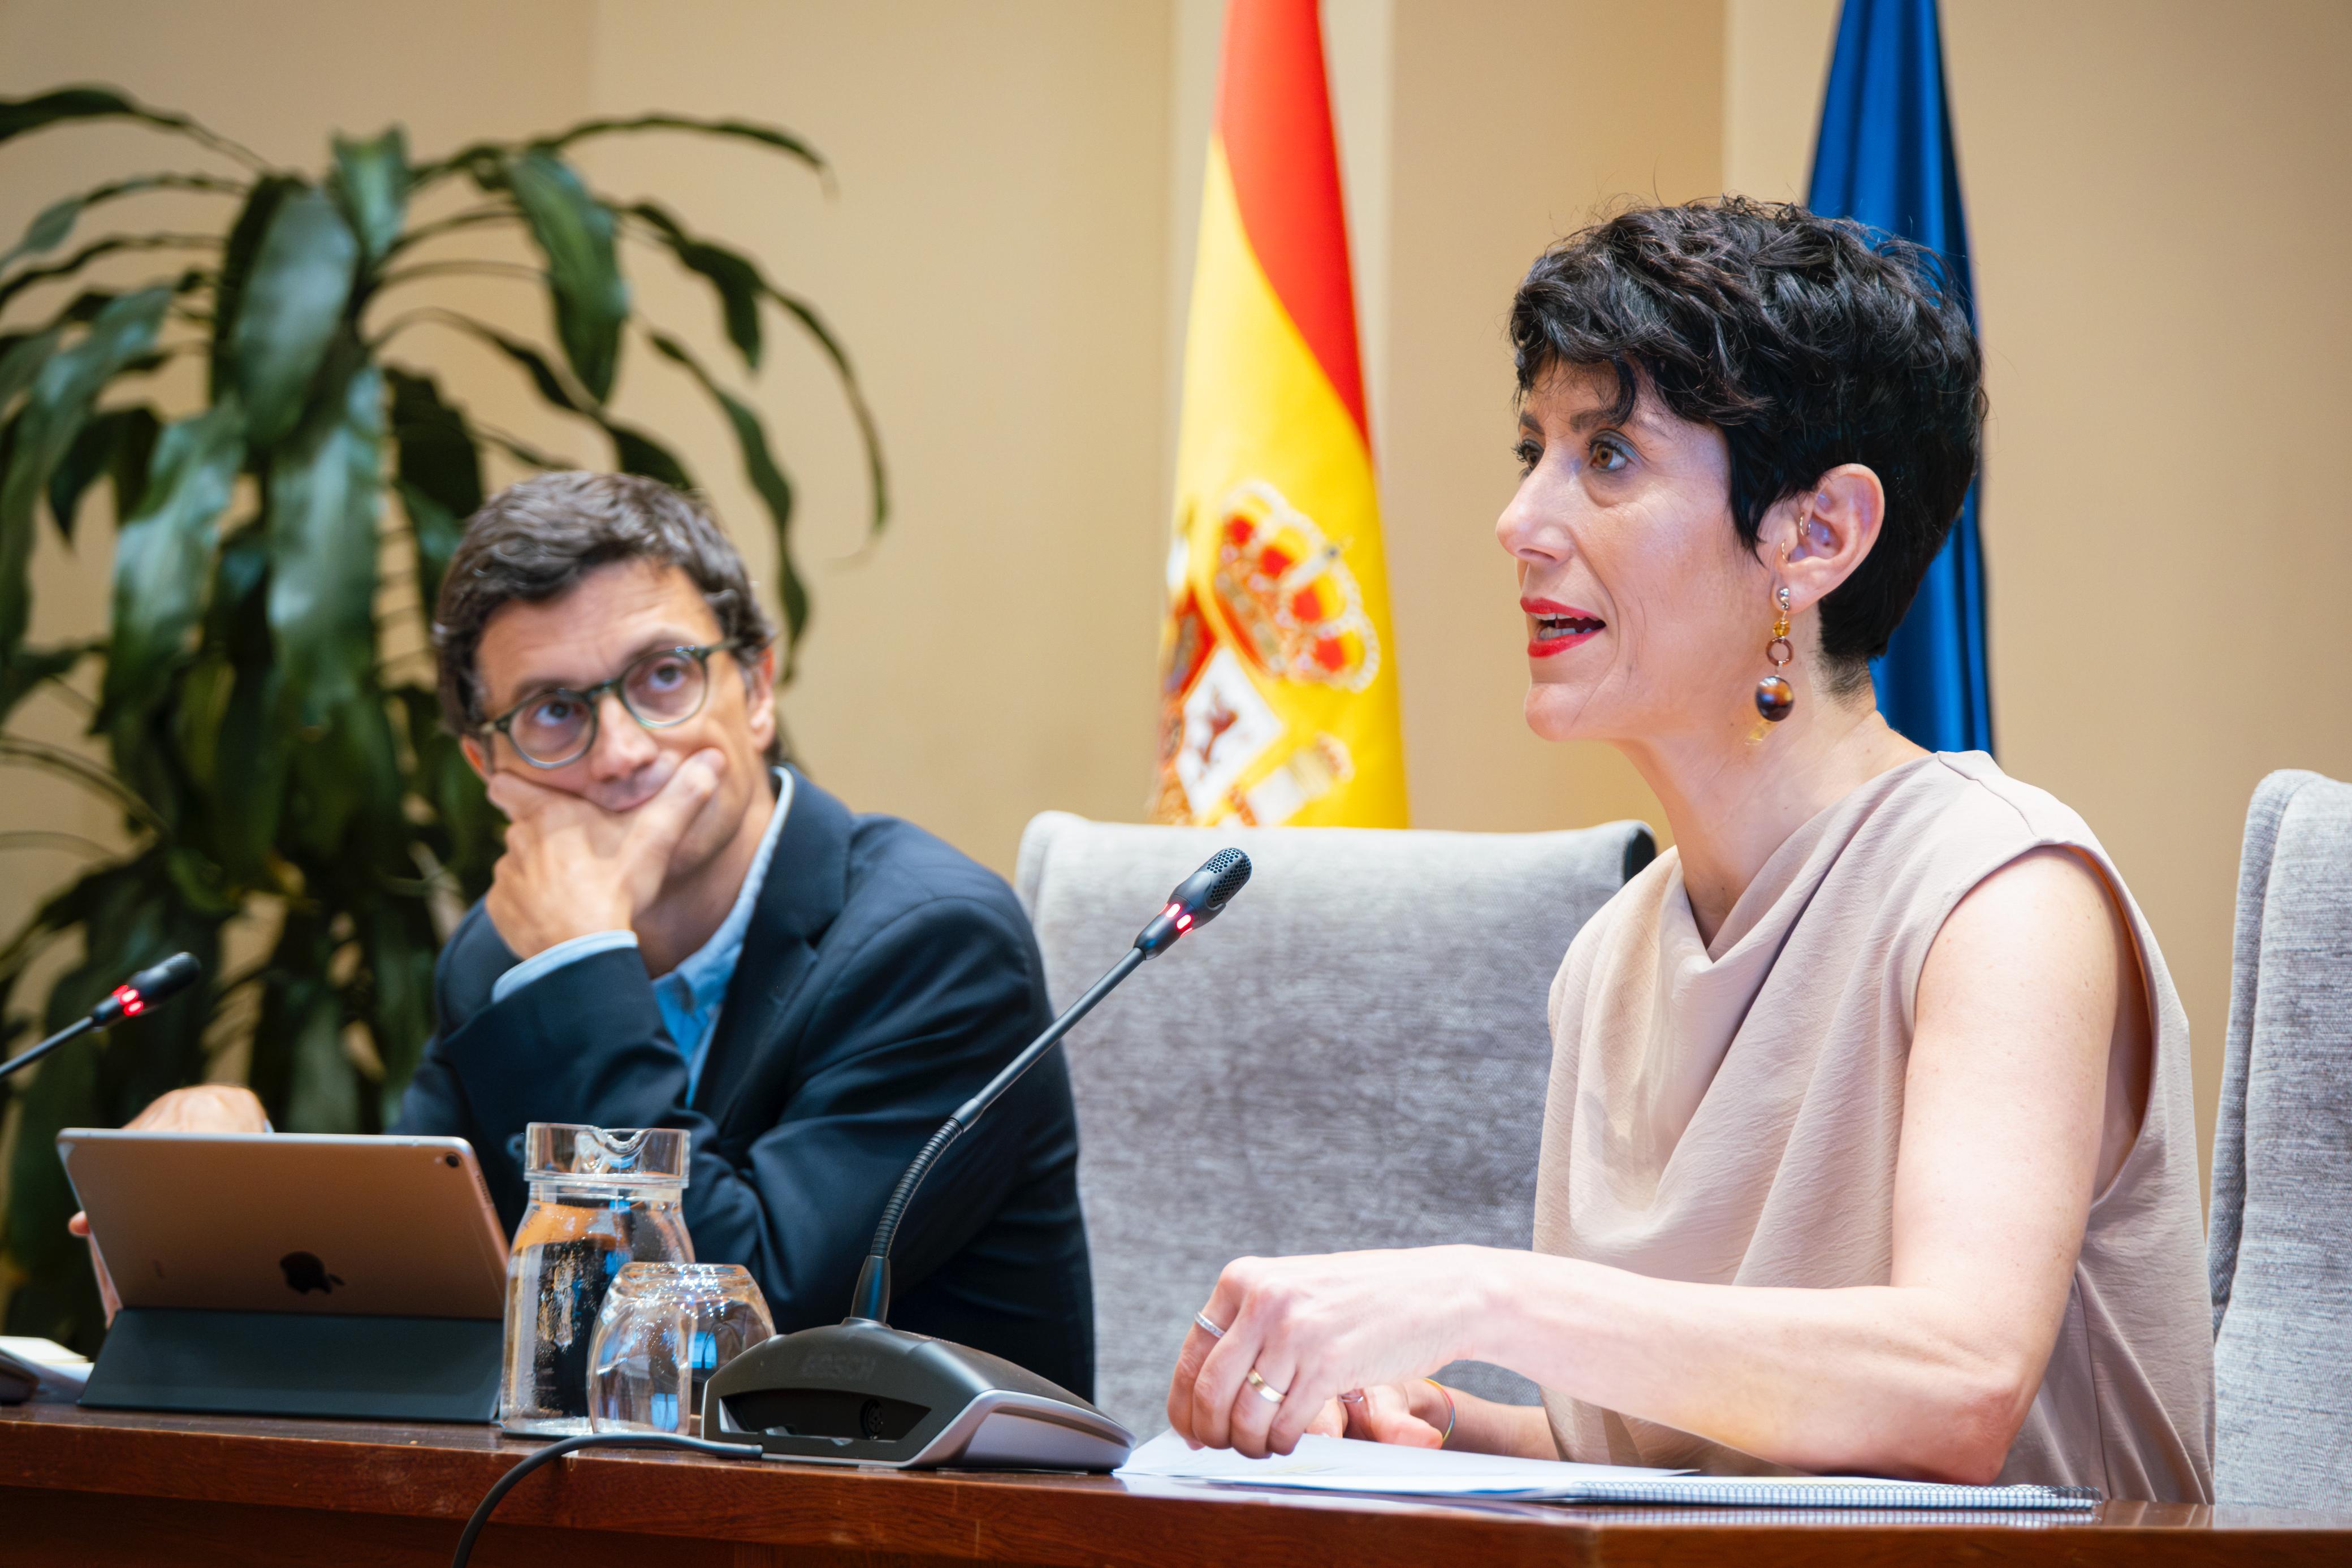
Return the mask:
[[[1404,738],[1315,0],[1232,0],[1160,639],[1162,823],[1404,827]]]

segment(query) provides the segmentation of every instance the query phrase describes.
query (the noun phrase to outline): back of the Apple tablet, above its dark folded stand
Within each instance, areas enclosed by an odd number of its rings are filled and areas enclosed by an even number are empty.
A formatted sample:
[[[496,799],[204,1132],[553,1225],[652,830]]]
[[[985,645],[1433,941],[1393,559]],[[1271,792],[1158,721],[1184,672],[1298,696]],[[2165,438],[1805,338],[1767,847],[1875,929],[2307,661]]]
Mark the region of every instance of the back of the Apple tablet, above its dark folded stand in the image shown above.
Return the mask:
[[[463,1138],[56,1135],[125,1307],[506,1312],[506,1234]]]

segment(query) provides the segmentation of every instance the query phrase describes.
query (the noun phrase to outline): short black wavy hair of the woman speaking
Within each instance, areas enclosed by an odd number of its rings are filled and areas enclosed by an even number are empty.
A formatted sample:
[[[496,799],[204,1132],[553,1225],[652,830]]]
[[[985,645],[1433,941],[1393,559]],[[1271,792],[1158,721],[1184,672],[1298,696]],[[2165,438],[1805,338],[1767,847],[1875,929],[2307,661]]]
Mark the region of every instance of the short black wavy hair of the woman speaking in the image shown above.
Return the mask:
[[[1606,364],[1613,418],[1642,383],[1731,447],[1731,524],[1839,463],[1886,487],[1860,567],[1820,604],[1820,649],[1853,689],[1919,592],[1969,496],[1985,428],[1969,301],[1933,252],[1804,207],[1726,195],[1637,207],[1536,259],[1510,301],[1519,395]],[[1842,679],[1839,679],[1842,677]]]

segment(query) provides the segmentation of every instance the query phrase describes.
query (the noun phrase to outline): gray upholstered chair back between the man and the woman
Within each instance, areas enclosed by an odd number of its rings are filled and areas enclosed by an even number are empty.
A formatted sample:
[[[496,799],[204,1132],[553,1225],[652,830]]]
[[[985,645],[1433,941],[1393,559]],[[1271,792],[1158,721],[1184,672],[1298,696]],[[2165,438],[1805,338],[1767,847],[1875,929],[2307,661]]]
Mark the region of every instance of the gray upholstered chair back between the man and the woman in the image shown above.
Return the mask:
[[[1581,832],[1129,827],[1049,811],[1016,875],[1054,1004],[1223,844],[1256,863],[1218,924],[1068,1041],[1094,1246],[1096,1401],[1160,1432],[1218,1269],[1249,1253],[1526,1246],[1569,938],[1656,853]],[[1534,1401],[1498,1368],[1463,1387]]]

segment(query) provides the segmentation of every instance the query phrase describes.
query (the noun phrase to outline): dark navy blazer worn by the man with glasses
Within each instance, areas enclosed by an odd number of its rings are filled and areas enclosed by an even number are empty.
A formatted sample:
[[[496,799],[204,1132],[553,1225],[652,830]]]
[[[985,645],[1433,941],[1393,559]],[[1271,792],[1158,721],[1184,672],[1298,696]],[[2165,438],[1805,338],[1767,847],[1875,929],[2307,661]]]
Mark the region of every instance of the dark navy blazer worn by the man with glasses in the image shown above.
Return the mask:
[[[748,1267],[779,1333],[849,1312],[906,1161],[1051,1020],[1037,938],[995,872],[800,776],[691,1103],[633,947],[492,1004],[515,964],[475,905],[442,950],[440,1034],[393,1131],[473,1143],[513,1232],[527,1121],[687,1128],[694,1255]],[[1091,1396],[1077,1112],[1058,1051],[931,1168],[891,1276],[891,1324]]]

